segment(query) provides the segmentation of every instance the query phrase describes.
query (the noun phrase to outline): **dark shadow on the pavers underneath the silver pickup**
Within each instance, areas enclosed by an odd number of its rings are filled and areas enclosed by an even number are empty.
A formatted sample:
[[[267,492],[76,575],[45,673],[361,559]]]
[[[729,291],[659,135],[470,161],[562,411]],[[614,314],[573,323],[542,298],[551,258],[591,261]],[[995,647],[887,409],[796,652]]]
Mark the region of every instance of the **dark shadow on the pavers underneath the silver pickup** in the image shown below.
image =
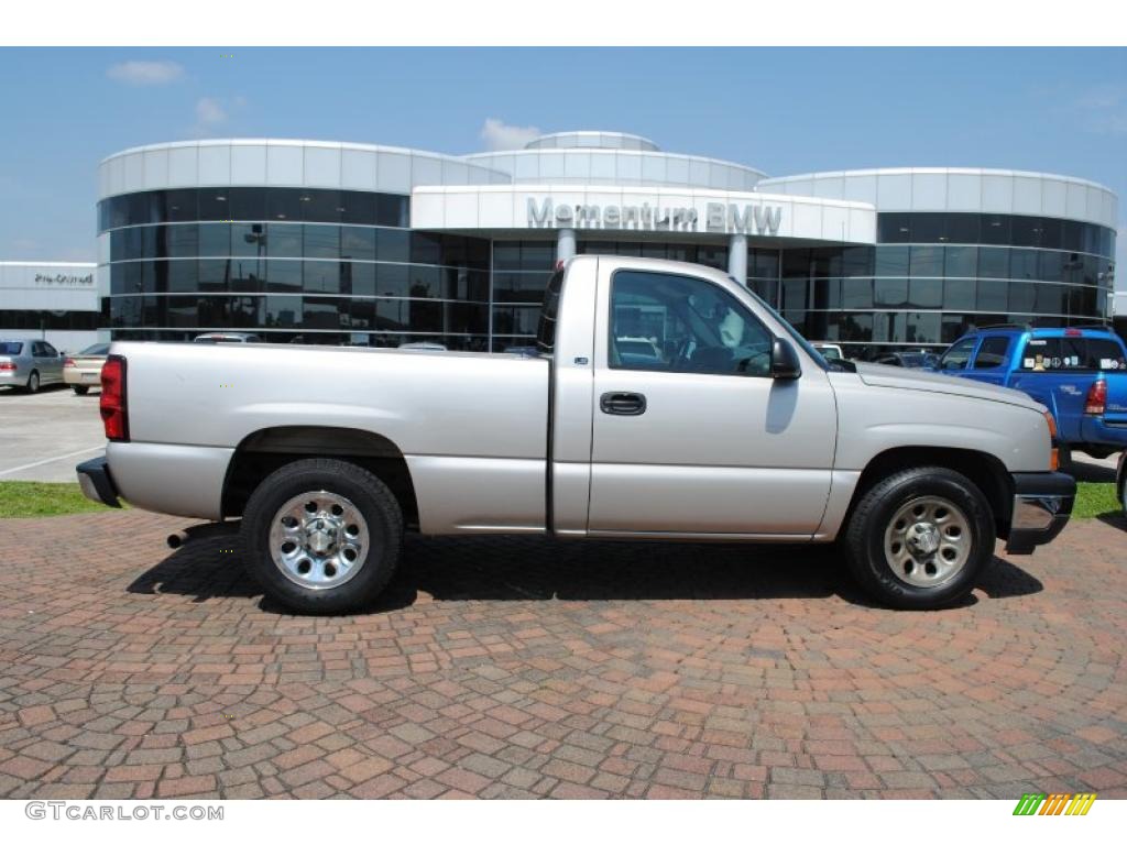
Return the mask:
[[[261,589],[245,570],[237,537],[206,537],[176,550],[128,592],[249,598]],[[990,598],[1039,593],[1042,585],[995,558],[979,589]],[[400,568],[362,612],[418,602],[613,599],[780,599],[836,595],[879,607],[861,592],[833,546],[562,542],[539,537],[409,536]],[[971,595],[965,606],[974,605]],[[261,598],[264,611],[287,613]]]

